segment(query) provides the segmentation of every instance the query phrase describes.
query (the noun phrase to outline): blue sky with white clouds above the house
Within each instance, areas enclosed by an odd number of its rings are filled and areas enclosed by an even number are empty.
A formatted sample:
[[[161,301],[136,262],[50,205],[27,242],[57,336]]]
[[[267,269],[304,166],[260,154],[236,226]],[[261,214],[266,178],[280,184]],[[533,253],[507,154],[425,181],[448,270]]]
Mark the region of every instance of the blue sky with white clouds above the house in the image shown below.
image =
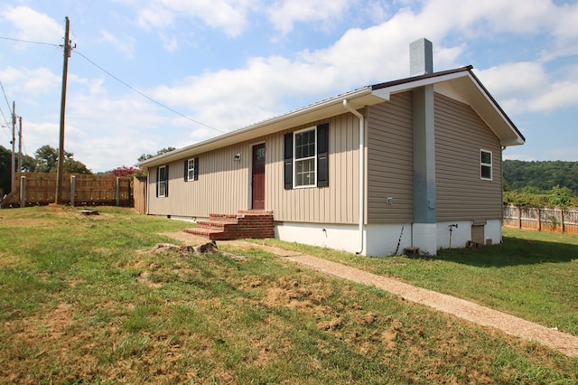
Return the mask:
[[[520,132],[507,159],[578,161],[578,1],[11,0],[0,2],[0,146],[65,146],[95,173],[353,89],[472,65]]]

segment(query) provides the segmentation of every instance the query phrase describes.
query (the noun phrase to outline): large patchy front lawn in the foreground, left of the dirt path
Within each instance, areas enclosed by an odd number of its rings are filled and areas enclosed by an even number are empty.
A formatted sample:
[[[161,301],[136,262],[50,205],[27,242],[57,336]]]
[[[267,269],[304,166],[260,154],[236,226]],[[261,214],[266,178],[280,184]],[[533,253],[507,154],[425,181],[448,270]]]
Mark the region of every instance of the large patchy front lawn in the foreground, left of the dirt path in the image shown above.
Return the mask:
[[[0,211],[0,382],[578,380],[578,359],[259,249],[227,249],[245,258],[153,253],[155,243],[176,243],[161,233],[188,225],[98,210]],[[308,251],[393,274],[394,258]],[[389,268],[484,268],[444,255]],[[422,275],[435,282],[432,269]]]

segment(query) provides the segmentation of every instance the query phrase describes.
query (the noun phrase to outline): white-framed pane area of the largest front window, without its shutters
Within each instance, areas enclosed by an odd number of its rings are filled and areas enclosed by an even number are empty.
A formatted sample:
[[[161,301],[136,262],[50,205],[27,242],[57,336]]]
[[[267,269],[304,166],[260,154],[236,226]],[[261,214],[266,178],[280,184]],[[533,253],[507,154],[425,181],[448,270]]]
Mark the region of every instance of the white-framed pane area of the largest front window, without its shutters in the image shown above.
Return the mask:
[[[315,179],[315,131],[299,131],[294,133],[294,187],[311,187]]]

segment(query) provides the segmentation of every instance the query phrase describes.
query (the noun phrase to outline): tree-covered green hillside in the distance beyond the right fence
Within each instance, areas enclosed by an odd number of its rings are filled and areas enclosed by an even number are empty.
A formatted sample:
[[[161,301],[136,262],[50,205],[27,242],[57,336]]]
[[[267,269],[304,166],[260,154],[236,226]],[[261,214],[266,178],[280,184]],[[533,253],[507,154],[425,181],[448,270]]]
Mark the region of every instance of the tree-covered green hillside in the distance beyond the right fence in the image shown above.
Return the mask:
[[[505,160],[504,182],[508,190],[520,191],[524,187],[533,187],[548,192],[555,185],[560,185],[578,194],[578,162]]]

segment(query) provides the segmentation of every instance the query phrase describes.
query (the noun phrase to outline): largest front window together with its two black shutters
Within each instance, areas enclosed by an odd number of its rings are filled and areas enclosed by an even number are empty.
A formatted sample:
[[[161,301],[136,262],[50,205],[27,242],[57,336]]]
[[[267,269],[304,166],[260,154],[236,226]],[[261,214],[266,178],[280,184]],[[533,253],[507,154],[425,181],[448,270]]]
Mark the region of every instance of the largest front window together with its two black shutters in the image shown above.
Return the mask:
[[[329,186],[329,124],[284,136],[284,188]]]

